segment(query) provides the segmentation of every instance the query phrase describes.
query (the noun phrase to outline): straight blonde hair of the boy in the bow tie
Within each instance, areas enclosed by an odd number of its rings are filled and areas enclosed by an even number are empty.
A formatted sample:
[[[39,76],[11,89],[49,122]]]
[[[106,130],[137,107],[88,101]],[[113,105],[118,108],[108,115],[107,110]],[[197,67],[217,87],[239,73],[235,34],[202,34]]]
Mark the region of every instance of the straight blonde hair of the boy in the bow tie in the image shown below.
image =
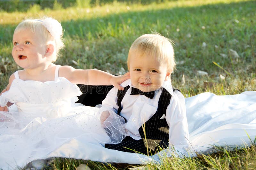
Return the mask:
[[[127,58],[128,70],[130,69],[131,56],[134,55],[152,57],[156,58],[157,61],[163,61],[167,64],[167,68],[171,72],[176,66],[172,41],[158,33],[144,34],[132,43]]]

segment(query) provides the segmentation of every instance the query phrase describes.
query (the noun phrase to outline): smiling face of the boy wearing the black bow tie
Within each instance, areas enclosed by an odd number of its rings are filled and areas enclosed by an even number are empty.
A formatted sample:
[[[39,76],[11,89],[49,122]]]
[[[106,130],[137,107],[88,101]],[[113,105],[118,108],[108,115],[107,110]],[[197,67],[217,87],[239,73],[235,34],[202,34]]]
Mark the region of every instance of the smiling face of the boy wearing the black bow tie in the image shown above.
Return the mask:
[[[132,85],[143,92],[159,89],[171,75],[166,63],[147,56],[131,56],[130,73]]]

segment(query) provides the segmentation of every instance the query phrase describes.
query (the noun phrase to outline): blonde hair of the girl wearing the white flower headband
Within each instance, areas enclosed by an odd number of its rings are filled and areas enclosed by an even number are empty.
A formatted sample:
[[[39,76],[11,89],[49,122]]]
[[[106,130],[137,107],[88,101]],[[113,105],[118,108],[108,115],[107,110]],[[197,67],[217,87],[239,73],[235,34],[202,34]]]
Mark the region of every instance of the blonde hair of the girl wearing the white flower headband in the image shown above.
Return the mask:
[[[41,37],[39,41],[42,41],[42,44],[48,45],[48,44],[53,44],[54,46],[54,54],[52,55],[52,62],[56,61],[57,58],[59,57],[59,51],[64,47],[64,43],[62,42],[62,35],[63,35],[63,30],[61,27],[61,30],[58,30],[61,32],[61,36],[59,37],[53,37],[51,33],[47,30],[47,28],[43,25],[43,21],[39,19],[26,19],[22,21],[14,30],[15,32],[19,32],[20,30],[23,29],[30,29],[34,34],[37,34]]]

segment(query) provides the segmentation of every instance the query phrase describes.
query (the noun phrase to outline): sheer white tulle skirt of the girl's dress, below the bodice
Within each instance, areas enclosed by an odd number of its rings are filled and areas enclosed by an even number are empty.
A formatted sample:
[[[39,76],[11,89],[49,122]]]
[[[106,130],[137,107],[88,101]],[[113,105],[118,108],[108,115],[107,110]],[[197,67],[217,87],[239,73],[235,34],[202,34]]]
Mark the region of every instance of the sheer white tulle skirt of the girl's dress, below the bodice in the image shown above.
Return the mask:
[[[72,113],[52,119],[41,115],[40,111],[13,112],[15,106],[11,110],[0,112],[1,166],[5,163],[11,163],[10,167],[26,165],[30,157],[38,154],[37,158],[43,158],[72,139],[104,145],[119,143],[125,135],[122,117],[110,115],[109,124],[103,126],[95,107],[78,104]]]

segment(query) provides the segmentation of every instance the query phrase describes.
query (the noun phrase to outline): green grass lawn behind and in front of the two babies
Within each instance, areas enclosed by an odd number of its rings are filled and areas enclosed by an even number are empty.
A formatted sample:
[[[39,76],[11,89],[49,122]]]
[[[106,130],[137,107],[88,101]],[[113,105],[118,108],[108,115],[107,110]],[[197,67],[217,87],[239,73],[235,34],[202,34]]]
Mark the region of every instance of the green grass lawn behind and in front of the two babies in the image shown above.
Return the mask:
[[[232,95],[256,90],[255,1],[180,0],[147,4],[108,1],[65,9],[56,1],[55,7],[51,7],[41,8],[36,4],[26,11],[0,11],[0,90],[7,85],[9,76],[21,69],[11,53],[16,25],[24,18],[42,16],[59,20],[65,30],[66,47],[56,64],[124,74],[132,42],[144,33],[155,31],[175,43],[177,69],[172,74],[172,84],[185,97],[202,92]],[[198,71],[208,74],[200,75]],[[149,164],[145,168],[255,169],[255,149],[252,146],[197,158],[167,158],[163,165]],[[74,169],[82,162],[95,169],[121,168],[74,159],[58,159],[52,168]]]

